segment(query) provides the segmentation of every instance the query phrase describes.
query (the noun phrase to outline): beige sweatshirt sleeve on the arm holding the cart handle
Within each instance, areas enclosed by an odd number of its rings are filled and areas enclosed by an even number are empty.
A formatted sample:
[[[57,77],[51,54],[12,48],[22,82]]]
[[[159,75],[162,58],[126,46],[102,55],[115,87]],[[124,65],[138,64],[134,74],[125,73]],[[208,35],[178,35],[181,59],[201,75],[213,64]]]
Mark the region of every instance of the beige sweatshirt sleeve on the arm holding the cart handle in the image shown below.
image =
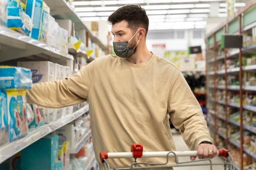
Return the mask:
[[[190,150],[195,150],[202,141],[213,144],[202,108],[181,72],[174,78],[169,91],[168,113]]]

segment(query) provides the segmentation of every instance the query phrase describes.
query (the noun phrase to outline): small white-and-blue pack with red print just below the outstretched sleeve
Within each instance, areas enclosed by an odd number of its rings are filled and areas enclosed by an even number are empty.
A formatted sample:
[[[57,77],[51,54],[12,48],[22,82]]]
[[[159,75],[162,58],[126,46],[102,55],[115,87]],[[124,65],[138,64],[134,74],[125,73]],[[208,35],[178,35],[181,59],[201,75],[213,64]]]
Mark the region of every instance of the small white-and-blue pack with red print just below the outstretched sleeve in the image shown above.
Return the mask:
[[[46,123],[45,108],[36,104],[31,104],[34,113],[34,121],[30,123],[30,127],[37,127]]]

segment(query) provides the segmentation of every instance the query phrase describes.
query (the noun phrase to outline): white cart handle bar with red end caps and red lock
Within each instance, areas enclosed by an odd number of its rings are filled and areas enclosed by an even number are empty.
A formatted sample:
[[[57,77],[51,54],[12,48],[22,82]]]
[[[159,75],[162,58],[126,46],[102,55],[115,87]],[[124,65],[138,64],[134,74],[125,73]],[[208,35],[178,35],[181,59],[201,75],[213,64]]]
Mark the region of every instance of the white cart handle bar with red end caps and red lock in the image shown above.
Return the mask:
[[[217,152],[219,157],[228,157],[228,150],[220,149]],[[173,153],[173,154],[170,154]],[[100,152],[101,162],[108,158],[152,158],[152,157],[191,157],[198,156],[197,151],[160,151],[160,152],[143,152],[142,144],[132,144],[131,152]]]

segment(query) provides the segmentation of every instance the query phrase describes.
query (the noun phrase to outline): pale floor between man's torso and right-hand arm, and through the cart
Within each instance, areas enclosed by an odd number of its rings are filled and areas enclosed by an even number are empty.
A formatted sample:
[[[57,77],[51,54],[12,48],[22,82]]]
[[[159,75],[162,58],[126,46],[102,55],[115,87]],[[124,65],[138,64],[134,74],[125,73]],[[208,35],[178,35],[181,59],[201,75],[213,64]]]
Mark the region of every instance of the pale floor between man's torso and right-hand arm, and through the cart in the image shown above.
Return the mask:
[[[182,136],[180,133],[177,133],[175,130],[172,129],[173,132],[173,139],[175,141],[176,149],[179,151],[189,150],[189,148],[186,146],[185,142],[182,139]],[[198,158],[196,160],[199,160]],[[179,157],[179,162],[185,162],[185,161],[191,161],[189,157]],[[224,159],[221,157],[215,157],[212,159],[213,163],[223,163]],[[197,164],[202,163],[209,163],[209,161],[200,161],[197,162]],[[195,166],[195,164],[192,164],[194,166],[186,166],[186,167],[175,167],[174,170],[211,170],[210,166]],[[223,165],[216,165],[213,166],[212,170],[224,170]]]

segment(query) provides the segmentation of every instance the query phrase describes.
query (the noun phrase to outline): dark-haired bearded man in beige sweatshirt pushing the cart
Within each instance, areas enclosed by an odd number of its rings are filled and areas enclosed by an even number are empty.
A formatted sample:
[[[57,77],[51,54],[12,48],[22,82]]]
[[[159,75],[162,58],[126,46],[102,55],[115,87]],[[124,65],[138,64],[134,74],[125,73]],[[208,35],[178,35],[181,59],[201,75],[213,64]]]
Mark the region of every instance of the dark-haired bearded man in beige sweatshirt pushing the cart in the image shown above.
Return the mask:
[[[99,57],[59,82],[34,84],[27,91],[27,102],[60,108],[87,100],[100,169],[99,152],[130,152],[134,143],[143,144],[144,151],[175,150],[168,115],[200,159],[216,156],[202,109],[184,76],[146,47],[146,11],[139,5],[126,5],[110,15],[108,22],[117,55]],[[121,168],[132,161],[109,159],[108,163]],[[137,161],[163,163],[166,158]]]

